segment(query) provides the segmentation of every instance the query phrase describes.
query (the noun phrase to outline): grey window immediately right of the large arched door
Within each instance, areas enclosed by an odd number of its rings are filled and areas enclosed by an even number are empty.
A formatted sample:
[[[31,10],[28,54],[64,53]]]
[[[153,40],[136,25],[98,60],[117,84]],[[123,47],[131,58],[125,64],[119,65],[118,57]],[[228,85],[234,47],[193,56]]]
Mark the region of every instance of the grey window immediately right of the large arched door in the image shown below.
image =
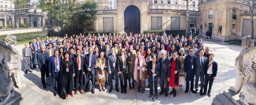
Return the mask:
[[[151,17],[151,30],[162,30],[162,17]]]

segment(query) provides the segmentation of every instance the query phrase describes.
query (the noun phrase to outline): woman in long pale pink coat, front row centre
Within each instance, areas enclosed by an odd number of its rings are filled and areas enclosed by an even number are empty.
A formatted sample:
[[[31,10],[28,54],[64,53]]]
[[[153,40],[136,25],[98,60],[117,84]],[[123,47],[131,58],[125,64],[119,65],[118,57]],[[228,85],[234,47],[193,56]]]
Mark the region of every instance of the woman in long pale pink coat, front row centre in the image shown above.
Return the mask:
[[[134,80],[136,81],[138,92],[144,93],[145,91],[145,66],[146,62],[144,56],[141,56],[141,51],[136,50],[136,56],[134,59]]]

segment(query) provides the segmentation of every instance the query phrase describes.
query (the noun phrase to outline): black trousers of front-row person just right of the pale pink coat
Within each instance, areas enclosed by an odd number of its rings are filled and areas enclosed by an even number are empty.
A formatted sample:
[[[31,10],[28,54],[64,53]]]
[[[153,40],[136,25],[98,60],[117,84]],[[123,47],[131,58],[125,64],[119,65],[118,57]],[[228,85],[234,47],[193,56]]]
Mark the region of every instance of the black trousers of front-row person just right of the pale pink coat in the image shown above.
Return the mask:
[[[157,94],[157,81],[158,76],[154,77],[154,89],[153,89],[153,77],[152,74],[148,76],[148,84],[150,85],[150,94],[153,94],[153,90],[155,91],[155,94]]]

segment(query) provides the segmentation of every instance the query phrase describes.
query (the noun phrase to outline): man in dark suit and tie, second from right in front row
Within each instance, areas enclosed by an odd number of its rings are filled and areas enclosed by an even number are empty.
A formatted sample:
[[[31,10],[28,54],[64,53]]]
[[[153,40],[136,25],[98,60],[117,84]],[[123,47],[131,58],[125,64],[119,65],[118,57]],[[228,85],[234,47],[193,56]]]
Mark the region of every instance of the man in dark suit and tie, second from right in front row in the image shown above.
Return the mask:
[[[207,60],[206,57],[204,57],[204,50],[199,50],[199,57],[196,58],[196,63],[195,63],[195,69],[196,69],[196,83],[195,83],[195,88],[197,93],[198,91],[198,82],[199,82],[199,77],[200,77],[200,95],[203,95],[203,86],[204,86],[204,65]]]

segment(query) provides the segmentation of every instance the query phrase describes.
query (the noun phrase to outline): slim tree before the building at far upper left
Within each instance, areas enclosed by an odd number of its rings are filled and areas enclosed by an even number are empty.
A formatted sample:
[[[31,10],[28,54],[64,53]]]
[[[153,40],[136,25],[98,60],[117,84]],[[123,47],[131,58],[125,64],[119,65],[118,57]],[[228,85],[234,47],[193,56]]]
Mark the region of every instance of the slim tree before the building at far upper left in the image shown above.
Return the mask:
[[[18,11],[18,24],[22,24],[21,19],[22,19],[22,14],[20,14],[20,9],[24,9],[27,6],[27,0],[12,0],[12,2],[14,3],[14,5],[17,8]]]

